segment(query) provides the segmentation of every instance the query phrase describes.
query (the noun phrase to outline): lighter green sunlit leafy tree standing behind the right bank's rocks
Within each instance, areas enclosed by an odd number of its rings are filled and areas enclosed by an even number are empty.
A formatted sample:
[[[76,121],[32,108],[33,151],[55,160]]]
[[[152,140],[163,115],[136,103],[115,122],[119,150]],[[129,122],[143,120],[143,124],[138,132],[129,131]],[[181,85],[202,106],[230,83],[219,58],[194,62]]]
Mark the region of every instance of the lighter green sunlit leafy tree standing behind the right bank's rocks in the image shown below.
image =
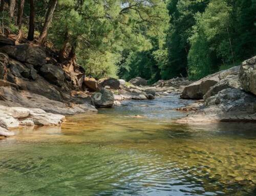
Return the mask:
[[[219,70],[221,64],[234,65],[230,37],[232,7],[223,0],[212,0],[205,12],[197,13],[191,49],[188,54],[189,76],[199,79]]]

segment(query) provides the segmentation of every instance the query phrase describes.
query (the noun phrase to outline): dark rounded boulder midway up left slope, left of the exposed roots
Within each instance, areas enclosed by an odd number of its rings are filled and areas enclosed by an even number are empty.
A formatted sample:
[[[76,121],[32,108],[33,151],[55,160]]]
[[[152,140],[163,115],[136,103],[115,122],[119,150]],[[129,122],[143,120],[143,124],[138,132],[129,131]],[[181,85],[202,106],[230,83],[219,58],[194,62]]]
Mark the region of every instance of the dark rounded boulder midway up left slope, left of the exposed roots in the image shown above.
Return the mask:
[[[63,85],[65,81],[64,72],[53,64],[44,64],[40,69],[40,73],[47,81],[58,86]]]

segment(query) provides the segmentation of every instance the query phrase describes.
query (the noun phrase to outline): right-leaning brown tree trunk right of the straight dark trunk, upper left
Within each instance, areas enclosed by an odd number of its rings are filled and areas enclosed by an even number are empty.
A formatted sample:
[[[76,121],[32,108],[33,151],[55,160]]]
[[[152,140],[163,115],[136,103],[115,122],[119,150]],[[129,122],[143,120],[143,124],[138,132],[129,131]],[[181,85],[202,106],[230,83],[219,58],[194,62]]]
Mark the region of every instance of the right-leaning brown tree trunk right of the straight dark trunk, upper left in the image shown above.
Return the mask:
[[[57,5],[57,0],[51,0],[49,2],[49,8],[48,8],[47,13],[46,13],[45,24],[44,24],[44,27],[42,28],[42,31],[41,31],[40,36],[39,36],[39,43],[40,44],[43,44],[46,40],[47,32],[48,32],[48,29],[50,27],[53,12],[56,8],[56,5]]]

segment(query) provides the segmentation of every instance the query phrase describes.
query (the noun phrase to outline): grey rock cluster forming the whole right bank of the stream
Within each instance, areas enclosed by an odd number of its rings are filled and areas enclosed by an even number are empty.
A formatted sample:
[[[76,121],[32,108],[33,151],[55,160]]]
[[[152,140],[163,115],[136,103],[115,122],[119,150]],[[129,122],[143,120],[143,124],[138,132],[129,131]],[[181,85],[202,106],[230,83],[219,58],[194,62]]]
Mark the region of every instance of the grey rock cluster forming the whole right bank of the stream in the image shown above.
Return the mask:
[[[203,99],[204,106],[178,122],[256,122],[255,95],[256,56],[186,86],[181,98]]]

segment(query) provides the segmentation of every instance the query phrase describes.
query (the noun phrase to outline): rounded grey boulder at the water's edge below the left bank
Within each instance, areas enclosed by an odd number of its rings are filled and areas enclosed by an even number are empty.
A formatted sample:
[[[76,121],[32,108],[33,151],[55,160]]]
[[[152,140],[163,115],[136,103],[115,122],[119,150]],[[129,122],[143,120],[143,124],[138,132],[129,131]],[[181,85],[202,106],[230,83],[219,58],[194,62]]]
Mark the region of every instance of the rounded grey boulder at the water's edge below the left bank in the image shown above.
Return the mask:
[[[96,107],[112,107],[114,100],[112,91],[106,89],[92,95],[92,102]]]

